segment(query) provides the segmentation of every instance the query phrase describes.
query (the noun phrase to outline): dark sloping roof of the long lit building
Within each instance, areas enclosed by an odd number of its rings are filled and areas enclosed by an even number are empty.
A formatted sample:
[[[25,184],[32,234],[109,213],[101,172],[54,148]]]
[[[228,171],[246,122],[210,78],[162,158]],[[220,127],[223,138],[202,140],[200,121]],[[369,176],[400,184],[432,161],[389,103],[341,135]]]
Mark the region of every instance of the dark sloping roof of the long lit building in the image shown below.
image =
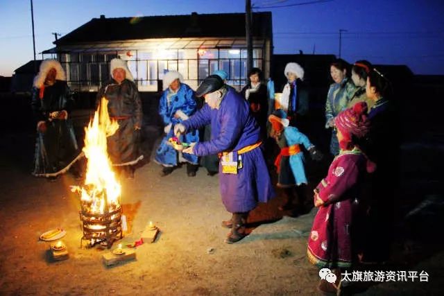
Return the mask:
[[[271,12],[253,12],[253,37],[272,38]],[[91,19],[59,38],[56,46],[176,37],[245,37],[244,13]]]

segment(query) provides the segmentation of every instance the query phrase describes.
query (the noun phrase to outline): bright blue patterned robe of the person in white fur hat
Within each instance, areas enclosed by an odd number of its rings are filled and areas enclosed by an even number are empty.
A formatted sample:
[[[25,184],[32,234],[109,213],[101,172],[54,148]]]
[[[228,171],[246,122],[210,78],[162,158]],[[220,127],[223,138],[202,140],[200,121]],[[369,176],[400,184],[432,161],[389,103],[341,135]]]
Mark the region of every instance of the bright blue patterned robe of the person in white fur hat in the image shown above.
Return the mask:
[[[171,130],[165,134],[165,137],[160,142],[159,147],[155,153],[155,162],[162,164],[162,166],[177,166],[178,165],[178,151],[168,144],[168,139],[174,137],[174,125],[181,123],[182,119],[174,118],[177,110],[182,110],[187,116],[191,116],[196,112],[196,100],[194,99],[193,90],[184,83],[180,83],[179,90],[170,98],[167,98],[170,89],[166,89],[162,94],[159,102],[159,114],[162,117],[164,124],[171,124]],[[180,137],[180,141],[185,143],[198,142],[198,130],[187,132]],[[191,164],[198,164],[198,157],[183,153],[182,157]]]

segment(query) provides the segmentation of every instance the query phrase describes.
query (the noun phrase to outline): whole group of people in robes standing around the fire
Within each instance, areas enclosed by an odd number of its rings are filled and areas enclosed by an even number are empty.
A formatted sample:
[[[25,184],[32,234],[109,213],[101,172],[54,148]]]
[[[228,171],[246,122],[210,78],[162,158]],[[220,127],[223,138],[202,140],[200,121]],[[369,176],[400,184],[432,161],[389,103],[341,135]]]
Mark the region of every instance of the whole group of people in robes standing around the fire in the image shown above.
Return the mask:
[[[330,65],[334,82],[325,103],[325,128],[332,132],[330,153],[334,159],[310,202],[318,212],[309,236],[309,260],[319,268],[332,268],[339,278],[336,283],[321,281],[321,290],[338,288],[341,268],[388,256],[380,243],[366,242],[359,233],[378,229],[373,238],[388,239],[390,232],[389,195],[393,192],[386,186],[394,165],[390,149],[395,149],[393,106],[386,96],[390,83],[365,60],[355,62],[350,72],[351,77],[344,60]],[[108,153],[115,168],[133,177],[135,165],[144,157],[139,147],[142,103],[126,62],[112,60],[110,73],[112,79],[97,95],[108,99],[110,118],[119,123],[119,130],[108,138]],[[294,191],[300,205],[306,202],[304,150],[315,160],[323,154],[306,134],[309,94],[304,74],[299,64],[288,63],[284,69],[287,83],[276,102],[274,89],[264,84],[257,68],[248,73],[249,82],[241,92],[226,84],[228,74],[224,71],[205,78],[196,92],[178,71],[164,74],[159,102],[164,137],[155,151],[155,162],[162,165],[162,176],[185,162],[187,175],[194,177],[198,157],[206,159],[209,175],[219,172],[222,202],[232,214],[222,222],[230,228],[226,243],[244,238],[248,213],[257,202],[267,202],[275,195],[266,164],[266,157],[273,153],[264,152],[266,139],[273,139],[279,148],[273,155],[277,186],[287,195],[280,209],[293,207]],[[42,62],[34,86],[37,143],[33,174],[54,178],[81,157],[69,120],[73,101],[65,72],[55,60]],[[169,141],[173,137],[188,145],[175,148]],[[373,186],[370,198],[363,201],[360,189],[365,182]]]

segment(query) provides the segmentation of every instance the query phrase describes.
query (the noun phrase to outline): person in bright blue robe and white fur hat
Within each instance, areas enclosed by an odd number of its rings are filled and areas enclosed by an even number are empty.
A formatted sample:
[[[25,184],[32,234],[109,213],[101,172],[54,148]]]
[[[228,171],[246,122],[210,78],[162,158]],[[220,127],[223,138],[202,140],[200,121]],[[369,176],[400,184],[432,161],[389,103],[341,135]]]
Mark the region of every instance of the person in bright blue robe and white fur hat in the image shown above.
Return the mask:
[[[173,173],[174,169],[182,162],[187,163],[187,175],[196,176],[198,169],[198,157],[189,153],[175,150],[169,139],[174,137],[174,125],[181,123],[194,114],[197,109],[194,91],[182,82],[183,77],[178,71],[169,71],[163,78],[164,92],[159,101],[159,114],[164,122],[165,136],[160,142],[155,153],[155,162],[162,166],[160,175],[162,177]],[[195,143],[199,141],[198,130],[187,132],[180,136],[184,143]]]

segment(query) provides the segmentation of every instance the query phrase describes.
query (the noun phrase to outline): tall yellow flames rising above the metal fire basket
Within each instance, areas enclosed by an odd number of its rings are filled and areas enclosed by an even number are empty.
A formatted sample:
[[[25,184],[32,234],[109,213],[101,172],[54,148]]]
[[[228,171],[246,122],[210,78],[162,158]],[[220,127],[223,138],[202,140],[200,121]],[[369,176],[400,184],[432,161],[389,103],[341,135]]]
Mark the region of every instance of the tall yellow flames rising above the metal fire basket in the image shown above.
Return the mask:
[[[82,202],[89,205],[88,211],[103,214],[119,207],[121,186],[112,171],[107,153],[106,138],[119,128],[117,121],[111,121],[108,114],[108,100],[101,99],[101,104],[94,113],[94,119],[85,128],[85,146],[83,153],[87,157],[85,186],[73,186],[71,191],[80,193]],[[105,209],[108,204],[108,209]]]

